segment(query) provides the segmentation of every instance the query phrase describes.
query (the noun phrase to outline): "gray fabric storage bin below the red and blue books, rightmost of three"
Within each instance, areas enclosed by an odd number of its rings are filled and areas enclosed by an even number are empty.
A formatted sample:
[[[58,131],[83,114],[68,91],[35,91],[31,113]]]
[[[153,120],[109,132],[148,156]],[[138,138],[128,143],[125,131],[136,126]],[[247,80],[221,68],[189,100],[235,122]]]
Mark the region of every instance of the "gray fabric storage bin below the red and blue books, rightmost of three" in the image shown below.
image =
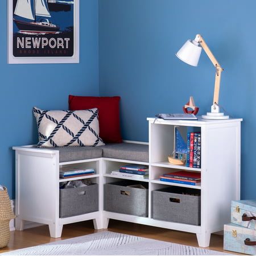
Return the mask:
[[[152,196],[153,218],[200,225],[201,191],[199,189],[170,186],[152,191]]]

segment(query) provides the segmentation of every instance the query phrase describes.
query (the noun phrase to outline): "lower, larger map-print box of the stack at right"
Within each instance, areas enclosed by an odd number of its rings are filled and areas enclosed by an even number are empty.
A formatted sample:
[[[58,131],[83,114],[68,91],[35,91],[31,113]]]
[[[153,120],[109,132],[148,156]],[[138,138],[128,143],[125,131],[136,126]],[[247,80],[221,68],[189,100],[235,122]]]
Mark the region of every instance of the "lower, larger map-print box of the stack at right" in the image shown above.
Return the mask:
[[[224,250],[256,255],[256,231],[233,223],[224,225]]]

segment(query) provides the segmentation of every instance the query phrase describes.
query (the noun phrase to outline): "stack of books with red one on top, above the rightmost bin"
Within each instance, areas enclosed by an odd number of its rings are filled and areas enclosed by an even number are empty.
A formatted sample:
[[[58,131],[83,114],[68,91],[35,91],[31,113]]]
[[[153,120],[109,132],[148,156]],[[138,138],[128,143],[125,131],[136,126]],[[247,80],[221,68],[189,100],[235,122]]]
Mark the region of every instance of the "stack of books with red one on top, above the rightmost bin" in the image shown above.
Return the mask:
[[[170,172],[160,176],[160,181],[167,181],[172,183],[186,184],[186,185],[201,185],[201,174],[198,172]]]

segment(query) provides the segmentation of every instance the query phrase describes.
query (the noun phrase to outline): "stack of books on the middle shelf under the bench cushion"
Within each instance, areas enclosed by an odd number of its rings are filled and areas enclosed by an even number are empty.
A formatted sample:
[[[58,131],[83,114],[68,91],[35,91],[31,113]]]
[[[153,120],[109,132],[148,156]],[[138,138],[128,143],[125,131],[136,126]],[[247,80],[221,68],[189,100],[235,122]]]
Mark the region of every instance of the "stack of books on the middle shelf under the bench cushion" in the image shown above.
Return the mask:
[[[121,177],[147,179],[148,166],[143,166],[142,164],[127,164],[126,166],[121,166],[119,171],[112,171],[111,174]]]

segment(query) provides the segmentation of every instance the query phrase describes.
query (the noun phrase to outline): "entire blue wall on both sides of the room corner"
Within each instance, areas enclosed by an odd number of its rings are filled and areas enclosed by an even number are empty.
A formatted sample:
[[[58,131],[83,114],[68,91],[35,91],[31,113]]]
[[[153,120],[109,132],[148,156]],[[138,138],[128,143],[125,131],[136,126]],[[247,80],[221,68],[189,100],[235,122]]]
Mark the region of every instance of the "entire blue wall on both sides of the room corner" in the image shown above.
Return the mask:
[[[207,112],[213,96],[212,63],[205,53],[198,68],[175,57],[197,33],[225,69],[220,104],[244,119],[242,198],[255,198],[254,0],[81,0],[80,64],[44,65],[7,64],[6,2],[0,3],[0,184],[7,186],[11,198],[11,146],[37,140],[32,106],[67,109],[69,93],[120,95],[123,138],[136,141],[148,140],[146,117],[181,112],[190,95],[200,106],[199,114]]]

